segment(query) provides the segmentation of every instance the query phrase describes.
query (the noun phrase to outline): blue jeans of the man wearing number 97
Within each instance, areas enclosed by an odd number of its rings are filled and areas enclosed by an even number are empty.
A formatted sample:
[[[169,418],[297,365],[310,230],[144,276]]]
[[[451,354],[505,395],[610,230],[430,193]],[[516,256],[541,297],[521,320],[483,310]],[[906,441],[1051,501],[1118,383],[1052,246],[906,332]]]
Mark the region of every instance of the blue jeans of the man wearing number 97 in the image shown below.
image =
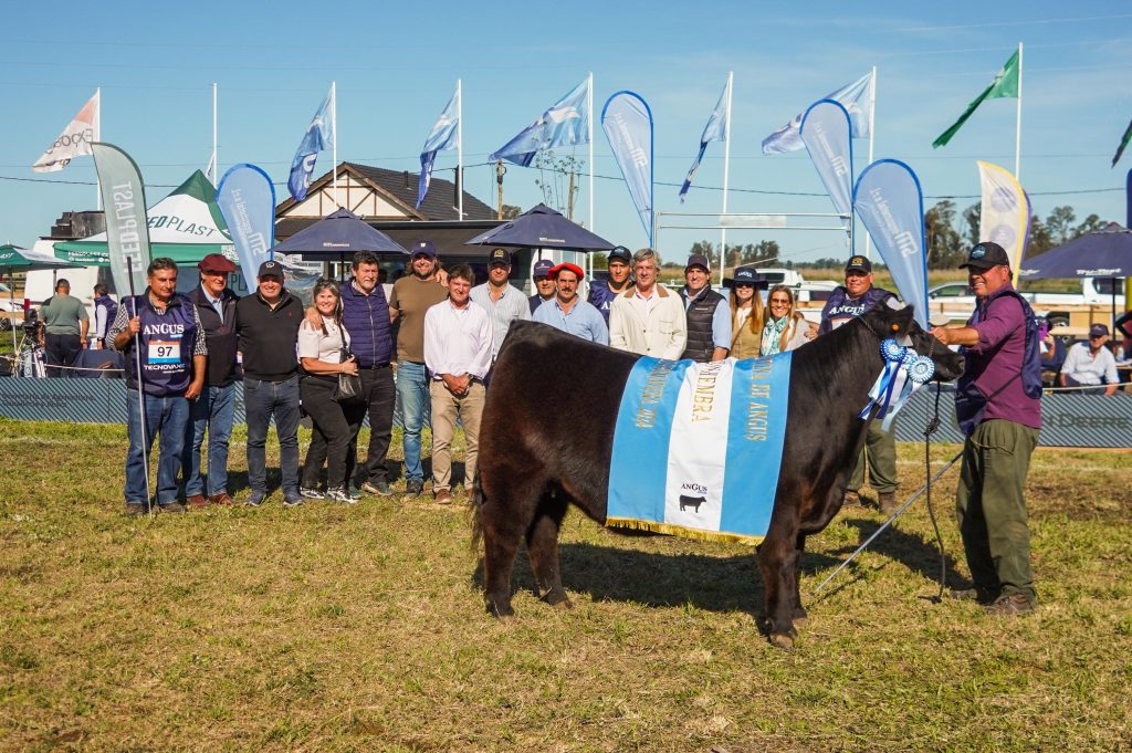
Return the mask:
[[[130,435],[130,448],[126,453],[126,504],[146,504],[145,455],[153,448],[154,437],[161,434],[157,504],[168,505],[177,502],[177,471],[181,468],[185,425],[189,420],[189,401],[180,395],[168,397],[144,395],[144,400],[146,429],[143,433],[138,391],[126,391],[126,427]]]

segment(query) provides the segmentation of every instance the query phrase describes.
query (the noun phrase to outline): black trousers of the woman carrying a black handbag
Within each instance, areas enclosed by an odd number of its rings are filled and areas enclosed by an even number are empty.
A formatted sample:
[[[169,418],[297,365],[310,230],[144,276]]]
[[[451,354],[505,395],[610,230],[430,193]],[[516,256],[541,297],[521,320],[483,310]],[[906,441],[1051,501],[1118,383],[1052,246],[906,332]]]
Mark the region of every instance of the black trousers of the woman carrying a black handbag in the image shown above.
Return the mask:
[[[299,382],[302,410],[310,417],[311,438],[307,461],[302,465],[302,486],[318,487],[318,474],[326,463],[326,486],[344,487],[353,472],[354,457],[350,448],[358,440],[358,430],[366,416],[366,405],[343,405],[334,400],[337,378],[303,376]]]

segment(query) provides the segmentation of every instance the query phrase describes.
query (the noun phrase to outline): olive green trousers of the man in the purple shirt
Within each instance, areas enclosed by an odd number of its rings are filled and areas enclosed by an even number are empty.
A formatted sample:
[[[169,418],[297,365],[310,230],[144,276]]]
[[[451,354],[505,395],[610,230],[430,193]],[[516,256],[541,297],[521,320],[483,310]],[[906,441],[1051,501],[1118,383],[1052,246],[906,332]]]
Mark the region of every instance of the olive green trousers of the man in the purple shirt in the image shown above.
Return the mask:
[[[989,593],[1035,598],[1022,488],[1037,444],[1037,429],[1004,420],[980,423],[963,444],[959,531],[971,579]]]

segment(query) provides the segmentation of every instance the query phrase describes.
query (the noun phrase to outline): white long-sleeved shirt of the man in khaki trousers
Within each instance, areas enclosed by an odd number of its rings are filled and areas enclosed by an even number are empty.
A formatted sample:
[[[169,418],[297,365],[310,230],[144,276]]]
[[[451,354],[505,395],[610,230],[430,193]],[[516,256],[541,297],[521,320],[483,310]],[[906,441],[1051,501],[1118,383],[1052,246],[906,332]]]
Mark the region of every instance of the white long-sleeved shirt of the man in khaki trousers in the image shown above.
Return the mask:
[[[525,299],[524,299],[525,301]],[[449,300],[424,313],[424,366],[432,378],[470,374],[482,379],[491,368],[491,319],[469,300],[456,308]]]

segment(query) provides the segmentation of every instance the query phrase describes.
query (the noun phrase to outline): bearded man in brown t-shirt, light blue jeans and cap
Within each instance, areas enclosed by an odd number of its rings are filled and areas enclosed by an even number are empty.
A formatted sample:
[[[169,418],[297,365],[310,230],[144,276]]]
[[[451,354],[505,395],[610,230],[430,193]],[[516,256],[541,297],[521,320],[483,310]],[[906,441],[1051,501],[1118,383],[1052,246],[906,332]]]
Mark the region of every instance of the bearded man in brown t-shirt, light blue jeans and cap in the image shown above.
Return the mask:
[[[389,320],[397,323],[397,401],[404,426],[402,447],[405,457],[405,493],[418,495],[424,489],[421,467],[421,427],[429,411],[429,380],[424,374],[424,314],[439,303],[448,291],[437,280],[436,247],[430,240],[418,240],[412,248],[412,271],[393,283],[389,297]]]

